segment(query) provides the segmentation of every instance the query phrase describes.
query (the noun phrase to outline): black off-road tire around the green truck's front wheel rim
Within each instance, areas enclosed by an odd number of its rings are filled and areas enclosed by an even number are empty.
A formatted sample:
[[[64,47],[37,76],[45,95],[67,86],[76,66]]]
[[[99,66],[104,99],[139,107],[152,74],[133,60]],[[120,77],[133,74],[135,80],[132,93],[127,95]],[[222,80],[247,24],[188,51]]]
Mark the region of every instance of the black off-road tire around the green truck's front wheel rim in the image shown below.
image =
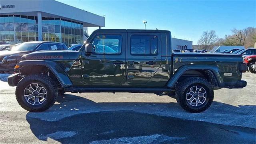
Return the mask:
[[[31,83],[41,84],[46,89],[46,100],[40,105],[32,105],[25,100],[24,89]],[[15,94],[16,100],[25,110],[28,110],[29,112],[43,112],[55,103],[58,96],[58,90],[55,82],[49,76],[42,74],[32,74],[25,76],[22,78],[22,80],[20,80],[20,82],[18,82]]]

